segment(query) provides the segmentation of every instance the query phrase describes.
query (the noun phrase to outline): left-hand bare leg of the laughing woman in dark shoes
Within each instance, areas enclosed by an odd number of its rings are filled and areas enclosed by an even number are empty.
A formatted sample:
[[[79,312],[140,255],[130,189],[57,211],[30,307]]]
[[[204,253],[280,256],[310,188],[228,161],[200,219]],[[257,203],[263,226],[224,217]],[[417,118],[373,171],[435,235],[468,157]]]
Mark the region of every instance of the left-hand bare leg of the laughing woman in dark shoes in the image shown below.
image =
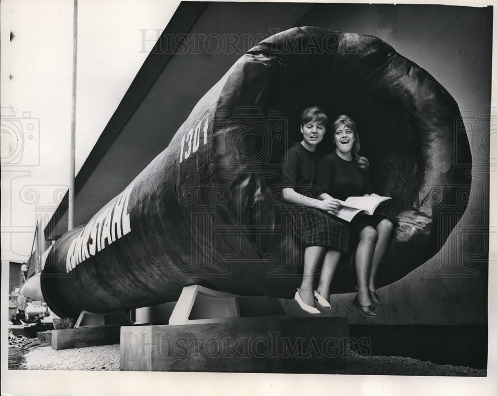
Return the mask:
[[[368,225],[359,232],[359,244],[355,250],[355,272],[357,273],[357,298],[361,305],[371,305],[368,280],[371,272],[371,260],[378,239],[378,233]]]

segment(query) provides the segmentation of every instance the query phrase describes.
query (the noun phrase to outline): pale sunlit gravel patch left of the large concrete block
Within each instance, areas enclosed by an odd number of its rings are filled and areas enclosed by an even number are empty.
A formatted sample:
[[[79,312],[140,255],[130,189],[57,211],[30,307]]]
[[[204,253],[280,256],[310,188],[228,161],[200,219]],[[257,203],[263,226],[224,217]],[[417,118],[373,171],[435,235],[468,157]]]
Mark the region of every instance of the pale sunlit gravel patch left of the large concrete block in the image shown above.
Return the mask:
[[[62,349],[39,347],[24,355],[23,370],[119,371],[119,344]]]

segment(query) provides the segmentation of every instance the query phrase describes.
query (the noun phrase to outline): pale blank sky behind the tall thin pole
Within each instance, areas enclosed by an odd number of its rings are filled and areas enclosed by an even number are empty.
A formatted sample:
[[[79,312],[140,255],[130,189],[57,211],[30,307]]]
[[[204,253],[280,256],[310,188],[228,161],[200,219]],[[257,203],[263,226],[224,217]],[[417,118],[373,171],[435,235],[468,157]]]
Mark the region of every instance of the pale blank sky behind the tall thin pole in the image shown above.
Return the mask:
[[[76,174],[179,1],[80,0]],[[73,0],[1,2],[1,251],[26,261],[69,186]]]

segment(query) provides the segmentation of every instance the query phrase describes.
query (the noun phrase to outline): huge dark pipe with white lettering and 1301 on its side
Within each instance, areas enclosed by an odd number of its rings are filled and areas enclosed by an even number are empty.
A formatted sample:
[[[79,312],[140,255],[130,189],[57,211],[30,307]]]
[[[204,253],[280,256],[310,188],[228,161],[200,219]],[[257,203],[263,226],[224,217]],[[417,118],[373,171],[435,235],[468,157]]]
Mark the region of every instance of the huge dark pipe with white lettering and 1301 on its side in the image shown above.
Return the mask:
[[[50,308],[75,316],[153,305],[192,284],[292,297],[304,247],[288,226],[298,213],[282,215],[277,176],[312,104],[356,120],[376,192],[394,198],[378,286],[435,255],[456,223],[444,213],[460,216],[471,186],[456,102],[376,37],[293,28],[240,58],[128,188],[55,243],[42,275]],[[354,286],[341,266],[333,292]]]

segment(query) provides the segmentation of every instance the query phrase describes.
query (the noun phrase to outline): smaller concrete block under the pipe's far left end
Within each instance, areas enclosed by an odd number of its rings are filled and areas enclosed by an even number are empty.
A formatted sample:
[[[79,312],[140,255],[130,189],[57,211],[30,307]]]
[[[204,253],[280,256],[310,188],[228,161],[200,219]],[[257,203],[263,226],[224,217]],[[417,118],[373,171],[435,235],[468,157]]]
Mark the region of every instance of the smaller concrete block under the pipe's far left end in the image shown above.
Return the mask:
[[[119,344],[121,326],[80,327],[52,330],[52,349]]]

